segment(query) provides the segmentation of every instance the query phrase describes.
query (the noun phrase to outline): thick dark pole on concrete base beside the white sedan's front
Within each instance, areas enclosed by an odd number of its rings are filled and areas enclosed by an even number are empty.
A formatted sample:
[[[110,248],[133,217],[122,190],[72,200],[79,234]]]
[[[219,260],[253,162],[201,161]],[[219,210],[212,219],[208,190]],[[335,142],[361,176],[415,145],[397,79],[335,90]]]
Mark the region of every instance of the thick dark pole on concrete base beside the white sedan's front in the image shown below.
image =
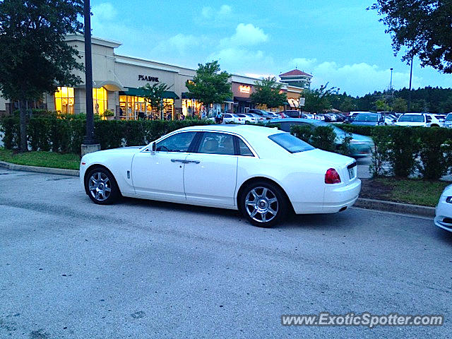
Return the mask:
[[[90,0],[85,0],[83,8],[85,21],[85,90],[86,90],[86,135],[81,145],[82,156],[86,153],[100,150],[100,145],[94,138],[93,112],[93,60],[91,55],[91,6]]]

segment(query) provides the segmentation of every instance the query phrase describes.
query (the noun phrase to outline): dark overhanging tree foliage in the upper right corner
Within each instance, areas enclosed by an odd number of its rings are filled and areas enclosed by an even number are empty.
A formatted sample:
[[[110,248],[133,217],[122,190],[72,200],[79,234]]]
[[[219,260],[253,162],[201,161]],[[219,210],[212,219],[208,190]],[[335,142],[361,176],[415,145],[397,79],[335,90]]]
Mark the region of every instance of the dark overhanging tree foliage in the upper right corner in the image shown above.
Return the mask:
[[[371,6],[391,34],[394,54],[403,61],[417,56],[421,66],[452,73],[452,4],[450,0],[377,0]]]

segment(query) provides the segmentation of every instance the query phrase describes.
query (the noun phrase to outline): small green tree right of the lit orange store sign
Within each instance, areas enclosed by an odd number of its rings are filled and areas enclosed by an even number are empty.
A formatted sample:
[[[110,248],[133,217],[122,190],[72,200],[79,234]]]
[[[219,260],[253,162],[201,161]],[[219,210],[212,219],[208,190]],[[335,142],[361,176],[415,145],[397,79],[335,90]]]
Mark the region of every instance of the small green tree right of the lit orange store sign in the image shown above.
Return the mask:
[[[281,88],[283,88],[283,84],[276,82],[274,76],[256,81],[256,92],[250,95],[251,102],[267,105],[268,108],[283,106],[287,102],[287,95],[282,92]]]

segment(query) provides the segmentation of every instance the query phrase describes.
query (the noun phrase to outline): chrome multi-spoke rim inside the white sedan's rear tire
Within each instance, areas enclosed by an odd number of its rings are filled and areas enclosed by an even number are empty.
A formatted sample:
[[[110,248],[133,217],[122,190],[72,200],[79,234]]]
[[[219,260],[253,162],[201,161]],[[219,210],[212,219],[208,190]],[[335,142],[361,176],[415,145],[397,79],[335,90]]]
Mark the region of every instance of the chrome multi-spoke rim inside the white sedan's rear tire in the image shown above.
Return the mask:
[[[251,219],[257,222],[269,222],[278,214],[278,198],[266,187],[255,187],[246,194],[245,209]]]

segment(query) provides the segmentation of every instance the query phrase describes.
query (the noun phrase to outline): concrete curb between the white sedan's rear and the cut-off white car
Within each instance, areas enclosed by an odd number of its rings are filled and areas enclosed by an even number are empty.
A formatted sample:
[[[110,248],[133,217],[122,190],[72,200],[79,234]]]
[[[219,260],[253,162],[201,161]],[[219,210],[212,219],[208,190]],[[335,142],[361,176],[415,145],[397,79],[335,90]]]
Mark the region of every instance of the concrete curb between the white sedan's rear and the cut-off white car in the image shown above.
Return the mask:
[[[435,208],[412,205],[411,203],[394,203],[376,199],[358,198],[354,207],[367,208],[369,210],[384,210],[386,212],[420,215],[422,217],[434,218]]]

